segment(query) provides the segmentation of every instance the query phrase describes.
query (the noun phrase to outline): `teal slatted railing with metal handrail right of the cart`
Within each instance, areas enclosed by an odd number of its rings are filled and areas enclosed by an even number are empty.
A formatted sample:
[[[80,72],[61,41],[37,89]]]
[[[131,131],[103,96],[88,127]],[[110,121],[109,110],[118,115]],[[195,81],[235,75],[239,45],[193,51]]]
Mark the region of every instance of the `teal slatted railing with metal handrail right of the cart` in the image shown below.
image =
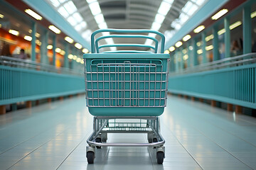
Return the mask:
[[[256,53],[197,66],[190,72],[171,74],[169,91],[256,108]]]

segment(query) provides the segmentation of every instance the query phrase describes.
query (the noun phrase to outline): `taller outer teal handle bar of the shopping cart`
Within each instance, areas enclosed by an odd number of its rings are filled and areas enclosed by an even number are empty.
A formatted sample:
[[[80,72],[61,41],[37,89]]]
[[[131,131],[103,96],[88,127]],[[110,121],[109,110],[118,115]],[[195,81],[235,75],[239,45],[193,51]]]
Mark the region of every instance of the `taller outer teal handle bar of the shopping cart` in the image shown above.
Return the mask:
[[[113,32],[113,33],[154,33],[156,35],[159,35],[161,37],[161,53],[164,53],[164,34],[156,31],[156,30],[125,30],[125,29],[100,29],[100,30],[95,30],[95,32],[92,33],[91,35],[91,48],[92,48],[92,53],[95,53],[95,35],[97,33],[103,33],[103,32]],[[127,35],[127,38],[131,38],[130,35]],[[133,38],[136,38],[134,36]],[[139,38],[139,37],[137,37]],[[150,38],[151,39],[151,38]]]

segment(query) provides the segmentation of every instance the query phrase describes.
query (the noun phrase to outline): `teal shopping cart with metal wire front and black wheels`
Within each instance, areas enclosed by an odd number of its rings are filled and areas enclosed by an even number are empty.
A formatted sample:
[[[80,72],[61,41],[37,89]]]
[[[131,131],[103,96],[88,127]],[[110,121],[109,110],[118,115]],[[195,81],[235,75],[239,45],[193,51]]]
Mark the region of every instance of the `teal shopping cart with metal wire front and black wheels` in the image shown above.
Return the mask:
[[[99,33],[102,36],[95,38]],[[157,35],[161,41],[147,34]],[[154,46],[99,45],[100,40],[107,38],[149,39]],[[91,40],[92,54],[83,56],[86,105],[94,115],[93,132],[87,140],[87,162],[94,163],[95,147],[154,147],[157,162],[162,164],[165,141],[158,116],[166,106],[169,60],[169,55],[163,54],[164,35],[154,30],[103,29],[92,33]],[[159,43],[161,53],[157,53]],[[100,52],[104,47],[142,47],[151,51]],[[148,143],[109,143],[108,133],[146,133]]]

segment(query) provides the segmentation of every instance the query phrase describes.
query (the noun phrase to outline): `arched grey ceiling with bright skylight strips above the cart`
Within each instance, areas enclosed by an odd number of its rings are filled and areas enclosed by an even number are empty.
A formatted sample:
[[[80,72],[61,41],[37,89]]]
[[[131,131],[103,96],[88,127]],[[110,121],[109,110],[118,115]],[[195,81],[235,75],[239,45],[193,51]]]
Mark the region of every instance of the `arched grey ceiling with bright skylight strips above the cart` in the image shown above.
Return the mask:
[[[168,41],[207,0],[46,0],[90,42],[100,28],[159,30]],[[157,38],[157,37],[156,37]],[[122,41],[122,42],[121,42]],[[149,44],[145,39],[106,39],[107,44]],[[112,48],[111,50],[116,50]],[[123,50],[123,47],[118,47]],[[127,49],[126,49],[127,50]],[[137,49],[133,49],[137,50]],[[146,50],[146,49],[143,49]]]

